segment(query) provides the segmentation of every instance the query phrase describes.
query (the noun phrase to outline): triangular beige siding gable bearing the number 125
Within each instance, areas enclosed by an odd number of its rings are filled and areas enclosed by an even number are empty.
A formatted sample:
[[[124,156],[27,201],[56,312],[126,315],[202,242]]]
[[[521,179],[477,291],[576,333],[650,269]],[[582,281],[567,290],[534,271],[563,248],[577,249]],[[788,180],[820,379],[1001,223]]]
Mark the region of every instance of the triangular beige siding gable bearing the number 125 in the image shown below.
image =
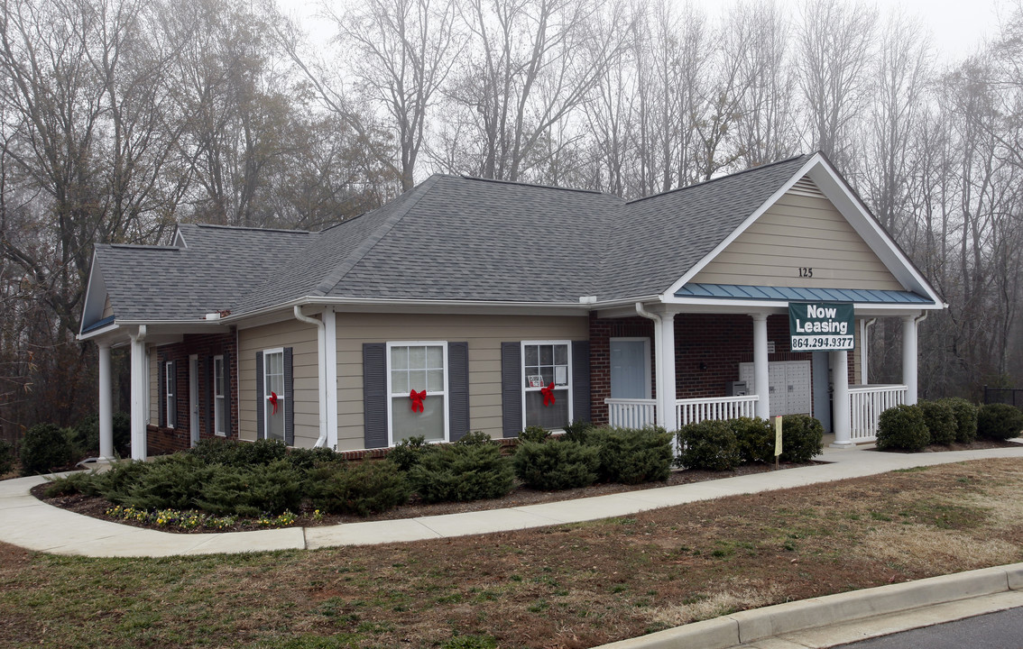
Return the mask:
[[[812,268],[813,277],[800,277]],[[866,242],[807,179],[692,280],[706,284],[901,289]]]

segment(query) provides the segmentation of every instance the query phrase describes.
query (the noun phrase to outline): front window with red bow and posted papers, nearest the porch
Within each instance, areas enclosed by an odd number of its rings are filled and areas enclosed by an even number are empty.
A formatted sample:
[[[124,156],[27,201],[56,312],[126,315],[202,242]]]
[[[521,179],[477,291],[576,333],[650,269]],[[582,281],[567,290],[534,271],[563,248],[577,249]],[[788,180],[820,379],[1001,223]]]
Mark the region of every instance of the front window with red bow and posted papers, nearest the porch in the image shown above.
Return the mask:
[[[524,340],[522,361],[525,425],[557,429],[572,423],[572,344]]]

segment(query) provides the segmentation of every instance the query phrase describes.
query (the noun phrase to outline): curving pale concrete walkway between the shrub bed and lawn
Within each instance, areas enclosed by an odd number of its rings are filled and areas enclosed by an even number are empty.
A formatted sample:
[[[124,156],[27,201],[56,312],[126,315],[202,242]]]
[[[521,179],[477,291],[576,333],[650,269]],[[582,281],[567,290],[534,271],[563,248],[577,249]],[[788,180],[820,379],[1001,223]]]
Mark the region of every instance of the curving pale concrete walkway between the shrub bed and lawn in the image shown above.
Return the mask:
[[[1023,458],[1019,448],[948,453],[877,453],[864,448],[826,449],[828,462],[796,469],[661,486],[490,511],[404,520],[223,534],[172,534],[99,520],[47,505],[29,491],[44,477],[0,481],[0,541],[29,550],[91,557],[162,557],[421,541],[581,522],[697,501],[817,484],[894,469],[984,458]]]

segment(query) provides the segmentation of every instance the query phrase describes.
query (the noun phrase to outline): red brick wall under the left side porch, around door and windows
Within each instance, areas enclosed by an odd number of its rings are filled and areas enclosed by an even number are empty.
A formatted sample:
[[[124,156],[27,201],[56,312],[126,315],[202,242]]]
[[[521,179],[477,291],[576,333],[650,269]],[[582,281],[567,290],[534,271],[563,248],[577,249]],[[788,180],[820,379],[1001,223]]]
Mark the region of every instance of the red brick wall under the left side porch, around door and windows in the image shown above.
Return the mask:
[[[207,430],[207,410],[211,408],[207,400],[207,367],[208,364],[212,364],[212,359],[214,356],[229,355],[230,358],[230,378],[231,378],[231,388],[230,388],[230,405],[231,409],[231,429],[228,431],[227,436],[237,438],[238,430],[238,353],[237,346],[235,344],[236,338],[234,332],[230,333],[218,333],[218,334],[204,334],[204,335],[186,335],[181,342],[175,344],[166,344],[157,347],[157,371],[164,371],[164,363],[168,361],[177,362],[177,384],[175,385],[175,395],[177,397],[177,408],[175,416],[175,426],[161,427],[149,425],[147,427],[148,434],[146,441],[146,452],[149,455],[163,455],[167,453],[174,453],[175,451],[181,451],[187,449],[191,443],[191,435],[189,433],[189,410],[191,404],[189,403],[189,389],[188,389],[188,372],[189,363],[188,357],[191,355],[198,356],[198,432],[199,438],[212,437],[214,436],[213,430]],[[212,373],[213,368],[210,366],[210,371]],[[159,377],[155,377],[159,384]],[[166,396],[160,395],[159,407],[166,408]],[[155,418],[159,421],[159,417]]]

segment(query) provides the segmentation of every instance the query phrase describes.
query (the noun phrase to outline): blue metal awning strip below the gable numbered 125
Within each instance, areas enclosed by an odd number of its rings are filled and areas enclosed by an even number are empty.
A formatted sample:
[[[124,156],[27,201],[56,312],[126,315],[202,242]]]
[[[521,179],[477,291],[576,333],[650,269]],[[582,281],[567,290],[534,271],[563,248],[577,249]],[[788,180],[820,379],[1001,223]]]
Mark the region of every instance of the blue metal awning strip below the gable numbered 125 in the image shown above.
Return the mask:
[[[927,297],[908,290],[866,288],[801,288],[796,286],[748,286],[739,284],[686,284],[675,297],[720,299],[776,299],[785,302],[852,302],[874,305],[932,305]]]

